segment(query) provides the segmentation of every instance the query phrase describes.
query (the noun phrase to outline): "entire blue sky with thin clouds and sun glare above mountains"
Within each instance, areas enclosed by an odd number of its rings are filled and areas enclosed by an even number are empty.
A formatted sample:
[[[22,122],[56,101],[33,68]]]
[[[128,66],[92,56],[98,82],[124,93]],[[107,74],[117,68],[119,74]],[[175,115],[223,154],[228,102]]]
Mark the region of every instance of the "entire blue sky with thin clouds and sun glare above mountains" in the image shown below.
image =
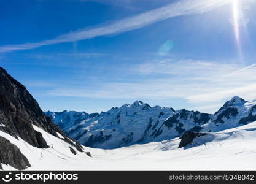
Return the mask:
[[[254,1],[0,1],[0,63],[44,110],[256,99]]]

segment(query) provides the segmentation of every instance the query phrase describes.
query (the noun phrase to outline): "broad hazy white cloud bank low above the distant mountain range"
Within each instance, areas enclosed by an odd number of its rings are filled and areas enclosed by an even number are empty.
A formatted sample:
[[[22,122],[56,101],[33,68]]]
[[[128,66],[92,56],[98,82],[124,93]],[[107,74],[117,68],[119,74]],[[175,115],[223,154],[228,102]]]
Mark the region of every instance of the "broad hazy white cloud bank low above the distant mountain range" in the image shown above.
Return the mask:
[[[256,99],[256,75],[254,75],[256,67],[246,67],[246,70],[243,68],[235,61],[230,63],[172,59],[150,61],[135,65],[130,70],[123,69],[124,72],[136,76],[138,78],[136,82],[134,80],[127,82],[119,76],[120,82],[104,81],[86,88],[58,87],[48,91],[48,95],[145,99],[174,103],[179,100],[190,104],[190,109],[214,112],[223,102],[235,95],[248,100]],[[224,75],[227,77],[222,77]],[[208,81],[211,83],[198,87]],[[175,104],[174,107],[184,107],[184,104]]]

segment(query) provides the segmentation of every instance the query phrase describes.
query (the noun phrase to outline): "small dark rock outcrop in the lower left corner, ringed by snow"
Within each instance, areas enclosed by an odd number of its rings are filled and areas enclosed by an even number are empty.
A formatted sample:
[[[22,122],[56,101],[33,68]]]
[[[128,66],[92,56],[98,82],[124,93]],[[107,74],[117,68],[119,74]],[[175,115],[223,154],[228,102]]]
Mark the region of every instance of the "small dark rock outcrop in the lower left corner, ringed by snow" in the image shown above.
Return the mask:
[[[8,164],[19,170],[30,167],[28,159],[20,152],[19,148],[0,136],[0,166],[1,163]],[[2,168],[0,167],[0,169]]]

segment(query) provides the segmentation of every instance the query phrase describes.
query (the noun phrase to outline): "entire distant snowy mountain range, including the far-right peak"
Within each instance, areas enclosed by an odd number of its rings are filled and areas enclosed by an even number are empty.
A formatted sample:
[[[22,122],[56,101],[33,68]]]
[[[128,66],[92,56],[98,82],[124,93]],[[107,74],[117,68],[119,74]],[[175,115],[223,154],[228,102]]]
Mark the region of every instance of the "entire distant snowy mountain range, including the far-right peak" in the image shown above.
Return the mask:
[[[217,132],[256,121],[256,101],[233,97],[214,114],[150,107],[142,101],[107,112],[45,112],[66,134],[92,148],[112,149],[173,139],[185,131]]]

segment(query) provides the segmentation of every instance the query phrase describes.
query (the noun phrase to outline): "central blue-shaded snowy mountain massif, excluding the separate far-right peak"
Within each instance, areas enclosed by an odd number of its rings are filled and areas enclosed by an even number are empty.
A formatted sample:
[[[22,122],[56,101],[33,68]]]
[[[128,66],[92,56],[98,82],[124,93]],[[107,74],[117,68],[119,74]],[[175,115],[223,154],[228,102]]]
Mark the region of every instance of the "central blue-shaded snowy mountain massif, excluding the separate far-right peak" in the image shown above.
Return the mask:
[[[173,108],[150,107],[142,101],[115,107],[100,114],[45,112],[69,136],[93,148],[118,148],[180,136],[208,123],[212,115]]]

